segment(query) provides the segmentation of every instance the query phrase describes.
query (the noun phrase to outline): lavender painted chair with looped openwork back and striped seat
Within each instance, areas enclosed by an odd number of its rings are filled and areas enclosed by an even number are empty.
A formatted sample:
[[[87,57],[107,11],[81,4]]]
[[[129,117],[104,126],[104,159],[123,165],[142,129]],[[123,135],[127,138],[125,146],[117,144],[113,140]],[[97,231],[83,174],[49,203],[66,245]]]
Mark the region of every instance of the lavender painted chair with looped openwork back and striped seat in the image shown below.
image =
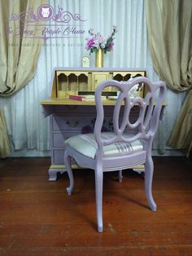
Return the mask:
[[[144,99],[130,99],[129,90],[137,84],[145,84]],[[101,95],[108,86],[120,90],[113,112],[113,132],[101,132],[104,120],[103,99]],[[166,86],[164,82],[150,82],[146,77],[137,77],[128,82],[107,80],[102,82],[95,91],[97,119],[93,134],[76,135],[68,138],[65,151],[65,165],[70,179],[67,188],[72,194],[73,174],[71,157],[79,166],[90,168],[95,173],[96,208],[98,232],[103,232],[103,172],[129,169],[132,166],[145,166],[146,198],[152,211],[156,204],[152,196],[152,178],[154,164],[151,157],[152,142],[158,127],[159,116],[164,101]],[[123,106],[124,104],[124,106]],[[137,120],[130,121],[129,113],[137,105],[140,108]]]

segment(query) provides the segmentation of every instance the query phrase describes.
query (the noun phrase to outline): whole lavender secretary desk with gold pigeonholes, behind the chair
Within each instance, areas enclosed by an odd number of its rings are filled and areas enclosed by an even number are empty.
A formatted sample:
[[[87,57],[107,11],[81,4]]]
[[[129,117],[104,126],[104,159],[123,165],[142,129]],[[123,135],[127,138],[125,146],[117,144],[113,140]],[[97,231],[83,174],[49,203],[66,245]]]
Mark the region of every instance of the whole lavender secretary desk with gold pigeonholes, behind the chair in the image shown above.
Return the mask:
[[[94,100],[79,101],[69,99],[69,95],[93,94],[100,82],[107,79],[127,81],[131,77],[146,77],[146,70],[142,68],[54,68],[52,75],[52,92],[50,99],[41,101],[44,117],[50,118],[50,151],[51,165],[49,180],[55,181],[57,174],[65,172],[64,166],[64,140],[72,135],[89,133],[94,130],[96,108]],[[103,130],[111,130],[111,109],[114,106],[113,97],[116,90],[104,92],[106,97],[103,102],[105,115]],[[137,95],[145,94],[144,86]],[[114,97],[114,98],[115,98]],[[131,116],[137,118],[139,108],[134,106]],[[72,168],[80,168],[75,161]],[[143,166],[135,166],[133,170],[141,173]]]

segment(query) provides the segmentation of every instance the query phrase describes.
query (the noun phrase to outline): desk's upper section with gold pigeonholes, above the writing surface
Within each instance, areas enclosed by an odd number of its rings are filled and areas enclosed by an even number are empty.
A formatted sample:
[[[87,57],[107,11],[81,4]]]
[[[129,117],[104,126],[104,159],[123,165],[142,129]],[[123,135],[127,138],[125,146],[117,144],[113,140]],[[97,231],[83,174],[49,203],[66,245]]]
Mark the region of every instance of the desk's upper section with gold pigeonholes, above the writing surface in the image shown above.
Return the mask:
[[[146,71],[124,68],[59,68],[54,70],[51,98],[67,98],[68,95],[94,94],[100,82],[108,79],[127,81],[130,77],[146,77]],[[107,93],[116,92],[107,89]],[[139,91],[143,96],[144,88]],[[115,94],[111,94],[115,95]]]

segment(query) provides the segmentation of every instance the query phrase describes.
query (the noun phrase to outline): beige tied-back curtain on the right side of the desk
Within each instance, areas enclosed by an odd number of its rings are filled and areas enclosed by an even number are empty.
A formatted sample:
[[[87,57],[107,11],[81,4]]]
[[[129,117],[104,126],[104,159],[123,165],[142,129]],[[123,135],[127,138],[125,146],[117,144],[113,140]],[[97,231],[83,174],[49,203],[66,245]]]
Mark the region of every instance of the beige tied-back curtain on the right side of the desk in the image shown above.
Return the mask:
[[[146,0],[146,24],[155,71],[168,87],[188,90],[168,146],[192,149],[192,1]]]

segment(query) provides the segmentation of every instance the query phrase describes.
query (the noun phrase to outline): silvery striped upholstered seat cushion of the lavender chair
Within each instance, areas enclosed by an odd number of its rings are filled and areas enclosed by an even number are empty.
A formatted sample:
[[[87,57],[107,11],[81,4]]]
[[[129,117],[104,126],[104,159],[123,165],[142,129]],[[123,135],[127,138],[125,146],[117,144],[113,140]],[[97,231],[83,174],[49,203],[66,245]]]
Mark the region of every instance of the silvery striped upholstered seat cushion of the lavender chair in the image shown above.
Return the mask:
[[[114,137],[112,132],[103,132],[103,139],[110,139]],[[130,138],[131,135],[125,134],[125,138]],[[85,157],[91,157],[94,159],[95,153],[98,148],[98,144],[94,139],[94,134],[76,135],[65,140],[71,148],[80,152]],[[133,152],[140,152],[143,150],[143,142],[141,139],[137,139],[133,143],[118,142],[107,146],[104,146],[104,157],[117,157],[123,155],[129,155]]]

